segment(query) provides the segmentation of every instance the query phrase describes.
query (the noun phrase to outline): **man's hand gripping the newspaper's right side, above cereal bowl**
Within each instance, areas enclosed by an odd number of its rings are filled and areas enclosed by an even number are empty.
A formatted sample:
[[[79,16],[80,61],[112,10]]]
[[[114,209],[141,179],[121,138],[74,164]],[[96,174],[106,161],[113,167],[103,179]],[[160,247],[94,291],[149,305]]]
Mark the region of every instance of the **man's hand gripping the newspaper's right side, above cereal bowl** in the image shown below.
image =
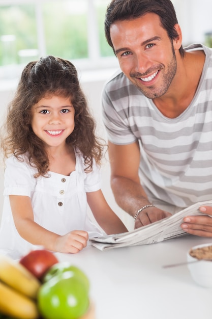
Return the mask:
[[[181,228],[192,235],[212,237],[212,207],[201,206],[199,210],[203,212],[205,216],[187,216],[184,218],[184,223],[181,224]]]

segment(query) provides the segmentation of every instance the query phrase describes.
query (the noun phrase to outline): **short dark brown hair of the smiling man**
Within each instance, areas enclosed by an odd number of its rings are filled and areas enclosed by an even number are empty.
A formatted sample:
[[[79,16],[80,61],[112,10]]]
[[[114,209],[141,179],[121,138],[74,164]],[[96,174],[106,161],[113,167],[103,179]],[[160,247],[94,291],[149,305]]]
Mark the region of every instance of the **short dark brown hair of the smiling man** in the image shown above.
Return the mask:
[[[178,34],[174,25],[178,21],[170,0],[112,0],[107,7],[105,16],[105,35],[113,51],[114,47],[110,37],[111,24],[116,21],[133,20],[149,12],[160,17],[161,24],[171,41],[177,38]],[[183,46],[179,48],[179,52],[183,57],[185,54]]]

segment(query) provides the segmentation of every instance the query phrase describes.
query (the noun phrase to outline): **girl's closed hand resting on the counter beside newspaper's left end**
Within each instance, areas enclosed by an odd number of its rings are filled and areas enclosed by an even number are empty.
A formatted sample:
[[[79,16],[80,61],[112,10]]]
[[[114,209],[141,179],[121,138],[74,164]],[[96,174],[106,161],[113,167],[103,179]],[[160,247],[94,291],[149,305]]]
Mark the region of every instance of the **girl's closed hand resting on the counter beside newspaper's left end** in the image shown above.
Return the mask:
[[[78,253],[87,246],[88,233],[84,230],[73,230],[55,241],[55,251],[60,253]]]

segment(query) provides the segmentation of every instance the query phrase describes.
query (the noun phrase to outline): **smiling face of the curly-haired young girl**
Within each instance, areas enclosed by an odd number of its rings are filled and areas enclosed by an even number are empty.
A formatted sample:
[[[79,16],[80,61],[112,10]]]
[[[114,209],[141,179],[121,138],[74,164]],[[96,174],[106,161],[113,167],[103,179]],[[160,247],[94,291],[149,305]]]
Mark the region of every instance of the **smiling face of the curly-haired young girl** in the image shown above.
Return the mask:
[[[74,130],[74,107],[70,98],[53,95],[44,97],[32,108],[32,129],[47,146],[65,146]]]

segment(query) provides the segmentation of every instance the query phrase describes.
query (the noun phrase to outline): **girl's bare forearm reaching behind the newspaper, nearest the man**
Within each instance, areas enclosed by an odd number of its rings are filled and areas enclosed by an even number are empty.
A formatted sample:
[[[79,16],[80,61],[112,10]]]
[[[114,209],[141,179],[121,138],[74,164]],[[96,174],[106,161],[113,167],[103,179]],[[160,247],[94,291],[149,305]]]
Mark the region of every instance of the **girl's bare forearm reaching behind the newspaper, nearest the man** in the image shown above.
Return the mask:
[[[101,190],[86,193],[86,195],[87,203],[97,223],[107,234],[117,234],[128,231],[123,222],[109,207]]]

